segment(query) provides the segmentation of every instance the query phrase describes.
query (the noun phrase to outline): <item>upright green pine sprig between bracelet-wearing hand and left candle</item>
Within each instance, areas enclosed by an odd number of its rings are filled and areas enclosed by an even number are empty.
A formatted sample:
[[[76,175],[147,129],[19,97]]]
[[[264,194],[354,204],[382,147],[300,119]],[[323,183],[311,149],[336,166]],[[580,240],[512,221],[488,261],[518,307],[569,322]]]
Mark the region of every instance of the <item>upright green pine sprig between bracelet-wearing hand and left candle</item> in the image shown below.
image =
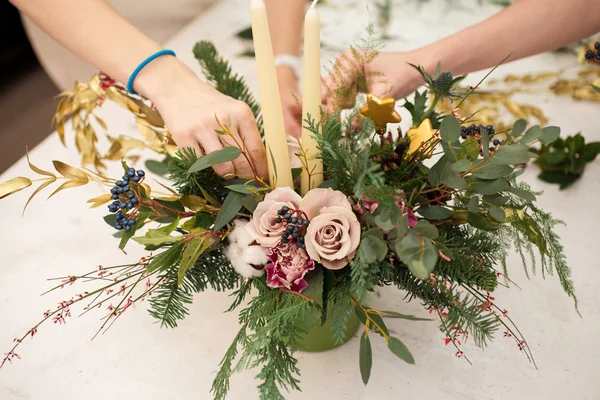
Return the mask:
[[[262,136],[263,128],[260,105],[254,99],[244,78],[231,71],[229,62],[219,55],[211,42],[201,41],[196,43],[194,46],[194,56],[200,62],[206,79],[213,84],[215,89],[229,97],[243,101],[250,107]]]

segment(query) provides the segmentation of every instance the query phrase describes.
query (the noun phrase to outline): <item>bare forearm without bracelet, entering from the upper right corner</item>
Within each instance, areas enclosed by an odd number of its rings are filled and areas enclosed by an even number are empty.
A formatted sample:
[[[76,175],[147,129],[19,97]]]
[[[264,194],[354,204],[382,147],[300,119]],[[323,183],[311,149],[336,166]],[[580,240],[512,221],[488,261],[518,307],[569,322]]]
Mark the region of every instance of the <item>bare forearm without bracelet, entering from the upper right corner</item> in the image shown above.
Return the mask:
[[[493,17],[417,50],[429,70],[438,61],[466,74],[557,49],[600,30],[598,0],[519,0]],[[434,60],[433,56],[436,57]]]

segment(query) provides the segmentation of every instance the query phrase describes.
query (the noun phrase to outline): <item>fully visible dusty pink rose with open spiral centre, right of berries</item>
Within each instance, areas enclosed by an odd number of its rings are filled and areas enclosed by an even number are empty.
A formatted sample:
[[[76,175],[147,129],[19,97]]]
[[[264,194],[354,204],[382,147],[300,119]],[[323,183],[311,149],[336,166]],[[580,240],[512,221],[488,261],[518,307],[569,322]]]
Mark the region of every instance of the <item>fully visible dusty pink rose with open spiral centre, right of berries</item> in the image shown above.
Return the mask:
[[[300,209],[310,219],[306,229],[306,252],[327,269],[342,269],[356,255],[360,223],[342,192],[327,189],[309,191]]]

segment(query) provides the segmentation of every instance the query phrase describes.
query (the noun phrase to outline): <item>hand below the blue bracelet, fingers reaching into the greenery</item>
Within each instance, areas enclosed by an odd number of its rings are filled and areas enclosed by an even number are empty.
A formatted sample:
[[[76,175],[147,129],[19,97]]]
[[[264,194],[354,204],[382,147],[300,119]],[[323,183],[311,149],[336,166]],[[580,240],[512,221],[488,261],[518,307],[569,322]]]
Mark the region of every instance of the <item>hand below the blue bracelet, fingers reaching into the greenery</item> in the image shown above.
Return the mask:
[[[136,78],[135,90],[154,103],[179,148],[191,147],[201,156],[243,143],[248,158],[241,155],[214,165],[217,174],[226,179],[266,177],[266,152],[246,103],[202,82],[174,57],[160,57],[148,64]],[[221,129],[217,118],[229,126],[233,138],[216,132]]]

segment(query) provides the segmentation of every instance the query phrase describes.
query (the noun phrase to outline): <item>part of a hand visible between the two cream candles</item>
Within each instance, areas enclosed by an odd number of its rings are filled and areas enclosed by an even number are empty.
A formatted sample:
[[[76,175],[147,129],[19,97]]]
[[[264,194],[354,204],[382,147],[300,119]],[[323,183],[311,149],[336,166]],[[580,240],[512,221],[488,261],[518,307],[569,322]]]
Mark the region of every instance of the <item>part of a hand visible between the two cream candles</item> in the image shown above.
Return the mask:
[[[298,79],[290,67],[281,65],[277,67],[277,82],[285,131],[288,136],[299,138],[302,135],[302,99]]]

